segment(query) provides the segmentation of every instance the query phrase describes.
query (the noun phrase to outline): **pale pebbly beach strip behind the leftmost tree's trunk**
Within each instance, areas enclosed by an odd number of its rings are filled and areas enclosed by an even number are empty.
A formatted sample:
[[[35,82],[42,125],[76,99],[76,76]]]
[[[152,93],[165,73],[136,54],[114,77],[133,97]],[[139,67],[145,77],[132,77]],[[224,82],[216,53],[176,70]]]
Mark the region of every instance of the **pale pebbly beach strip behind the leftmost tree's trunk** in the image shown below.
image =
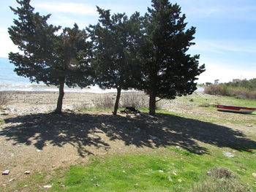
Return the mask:
[[[59,93],[54,91],[4,91],[3,93],[7,94],[4,112],[10,115],[52,112],[56,108],[59,96]],[[64,94],[63,110],[93,107],[94,99],[100,95],[102,94],[67,92]]]

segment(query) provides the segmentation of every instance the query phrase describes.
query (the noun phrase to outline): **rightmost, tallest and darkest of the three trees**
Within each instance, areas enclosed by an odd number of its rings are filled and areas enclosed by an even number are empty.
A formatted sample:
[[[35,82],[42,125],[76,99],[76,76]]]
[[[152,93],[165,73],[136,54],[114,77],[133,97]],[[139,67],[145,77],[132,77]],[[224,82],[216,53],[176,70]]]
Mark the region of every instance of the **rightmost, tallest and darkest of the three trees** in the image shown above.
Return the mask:
[[[186,30],[185,15],[178,4],[167,0],[152,0],[143,28],[144,37],[139,57],[142,65],[140,89],[149,95],[149,114],[154,115],[156,98],[175,99],[196,90],[196,76],[205,71],[199,66],[199,55],[189,55],[187,50],[195,27]]]

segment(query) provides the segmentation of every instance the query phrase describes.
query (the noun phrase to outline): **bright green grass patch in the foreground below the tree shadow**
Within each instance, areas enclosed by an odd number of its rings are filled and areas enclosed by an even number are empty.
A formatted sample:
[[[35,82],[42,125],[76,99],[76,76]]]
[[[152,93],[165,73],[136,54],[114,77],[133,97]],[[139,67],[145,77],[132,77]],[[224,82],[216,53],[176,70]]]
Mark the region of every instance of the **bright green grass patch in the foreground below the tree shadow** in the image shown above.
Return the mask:
[[[225,157],[216,147],[211,147],[211,155],[167,147],[144,154],[91,157],[89,164],[70,166],[64,177],[51,180],[50,191],[189,191],[208,180],[206,173],[214,166],[228,167],[255,190],[255,155],[232,153],[235,158]]]

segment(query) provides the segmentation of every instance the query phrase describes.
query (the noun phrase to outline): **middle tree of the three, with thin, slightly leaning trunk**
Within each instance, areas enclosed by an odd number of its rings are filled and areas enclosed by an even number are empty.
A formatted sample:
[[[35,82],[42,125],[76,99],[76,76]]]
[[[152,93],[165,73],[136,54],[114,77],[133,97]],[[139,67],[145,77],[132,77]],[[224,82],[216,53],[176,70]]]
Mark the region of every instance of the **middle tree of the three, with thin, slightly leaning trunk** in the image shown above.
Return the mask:
[[[97,7],[99,23],[87,30],[94,42],[92,65],[96,72],[96,83],[100,88],[116,88],[116,115],[121,90],[135,88],[138,83],[133,77],[140,75],[135,62],[136,41],[140,35],[140,14],[130,18],[124,13],[110,15],[110,10]]]

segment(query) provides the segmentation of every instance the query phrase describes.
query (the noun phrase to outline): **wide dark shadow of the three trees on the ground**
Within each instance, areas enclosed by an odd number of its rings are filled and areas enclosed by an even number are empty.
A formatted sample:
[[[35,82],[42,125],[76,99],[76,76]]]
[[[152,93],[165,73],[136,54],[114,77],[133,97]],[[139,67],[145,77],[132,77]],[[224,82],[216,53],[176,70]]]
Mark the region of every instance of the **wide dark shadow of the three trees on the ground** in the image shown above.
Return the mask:
[[[1,129],[0,136],[14,141],[13,145],[24,143],[42,150],[47,143],[59,147],[71,144],[81,156],[94,154],[90,147],[108,150],[115,141],[151,148],[176,145],[197,154],[208,153],[198,142],[236,150],[256,148],[256,142],[241,131],[176,115],[127,118],[107,114],[36,114],[7,118],[5,122],[12,124]]]

